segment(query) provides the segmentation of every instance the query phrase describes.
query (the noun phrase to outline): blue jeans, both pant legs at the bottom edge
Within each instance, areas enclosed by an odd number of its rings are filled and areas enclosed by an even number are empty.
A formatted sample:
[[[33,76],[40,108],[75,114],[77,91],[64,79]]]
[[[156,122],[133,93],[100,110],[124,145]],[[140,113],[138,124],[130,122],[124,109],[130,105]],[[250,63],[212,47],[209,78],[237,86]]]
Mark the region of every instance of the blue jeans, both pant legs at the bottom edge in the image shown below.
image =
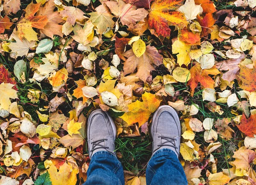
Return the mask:
[[[167,148],[160,149],[148,162],[146,170],[147,185],[187,185],[186,175],[176,156]],[[93,154],[87,170],[84,185],[124,185],[121,162],[107,151]]]

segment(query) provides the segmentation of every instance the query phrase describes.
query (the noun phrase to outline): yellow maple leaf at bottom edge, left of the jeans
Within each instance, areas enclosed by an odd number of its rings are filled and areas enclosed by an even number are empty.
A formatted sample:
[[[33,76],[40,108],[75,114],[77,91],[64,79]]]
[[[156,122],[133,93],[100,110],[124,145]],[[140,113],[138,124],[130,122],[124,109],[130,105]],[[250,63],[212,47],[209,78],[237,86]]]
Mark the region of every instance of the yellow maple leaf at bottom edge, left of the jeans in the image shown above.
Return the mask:
[[[76,185],[77,170],[72,169],[71,165],[68,165],[66,162],[59,168],[59,171],[57,171],[55,165],[51,165],[47,171],[52,185]]]

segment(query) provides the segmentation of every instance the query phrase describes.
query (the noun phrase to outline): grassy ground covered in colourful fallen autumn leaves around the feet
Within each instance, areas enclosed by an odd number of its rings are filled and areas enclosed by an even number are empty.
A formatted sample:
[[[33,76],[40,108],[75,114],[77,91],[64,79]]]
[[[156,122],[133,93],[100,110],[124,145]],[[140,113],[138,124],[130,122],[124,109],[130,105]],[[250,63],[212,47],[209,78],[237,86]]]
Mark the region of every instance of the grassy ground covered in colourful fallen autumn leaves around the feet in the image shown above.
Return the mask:
[[[116,123],[125,183],[144,185],[148,125],[169,104],[190,185],[256,185],[255,9],[256,0],[3,0],[0,184],[85,182],[86,119],[101,108]]]

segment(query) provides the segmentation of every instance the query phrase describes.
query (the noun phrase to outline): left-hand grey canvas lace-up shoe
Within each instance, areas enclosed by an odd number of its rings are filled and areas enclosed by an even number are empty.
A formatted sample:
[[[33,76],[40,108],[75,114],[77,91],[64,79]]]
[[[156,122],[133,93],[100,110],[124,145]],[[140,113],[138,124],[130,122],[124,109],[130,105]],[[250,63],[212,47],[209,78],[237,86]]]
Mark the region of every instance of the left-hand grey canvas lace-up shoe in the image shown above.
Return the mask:
[[[94,110],[87,123],[88,153],[91,158],[98,151],[108,151],[116,156],[116,125],[108,113]]]

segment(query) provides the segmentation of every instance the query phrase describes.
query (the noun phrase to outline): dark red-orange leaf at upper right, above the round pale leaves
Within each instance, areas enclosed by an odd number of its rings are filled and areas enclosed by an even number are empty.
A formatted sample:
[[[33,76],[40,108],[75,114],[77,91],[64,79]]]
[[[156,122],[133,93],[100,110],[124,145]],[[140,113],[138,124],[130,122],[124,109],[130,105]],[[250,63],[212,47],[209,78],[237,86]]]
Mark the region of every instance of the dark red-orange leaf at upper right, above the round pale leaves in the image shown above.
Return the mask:
[[[198,16],[198,22],[202,26],[201,36],[205,37],[212,32],[211,27],[214,25],[215,19],[212,17],[211,13],[208,13],[204,16],[203,19],[201,19],[201,17]]]

